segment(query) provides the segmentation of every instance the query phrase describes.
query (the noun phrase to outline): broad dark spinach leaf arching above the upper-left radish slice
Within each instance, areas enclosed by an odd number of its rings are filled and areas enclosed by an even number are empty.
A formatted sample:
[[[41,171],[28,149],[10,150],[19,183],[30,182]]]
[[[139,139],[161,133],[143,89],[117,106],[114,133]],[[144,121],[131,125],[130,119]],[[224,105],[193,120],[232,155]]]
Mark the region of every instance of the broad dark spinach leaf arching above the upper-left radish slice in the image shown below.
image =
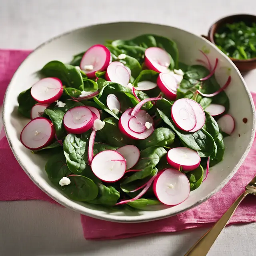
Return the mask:
[[[67,87],[79,88],[83,85],[83,78],[79,70],[69,64],[64,64],[58,60],[48,62],[40,73],[46,77],[57,77],[63,85]]]

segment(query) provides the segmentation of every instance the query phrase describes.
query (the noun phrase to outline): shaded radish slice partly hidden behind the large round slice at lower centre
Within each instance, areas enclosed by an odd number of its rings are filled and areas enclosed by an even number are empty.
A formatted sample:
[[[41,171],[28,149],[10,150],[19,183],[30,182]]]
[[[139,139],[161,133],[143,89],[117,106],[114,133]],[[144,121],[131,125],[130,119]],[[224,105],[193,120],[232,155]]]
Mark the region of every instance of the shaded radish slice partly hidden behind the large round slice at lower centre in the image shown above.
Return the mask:
[[[116,152],[119,152],[124,159],[126,159],[126,169],[132,168],[140,158],[140,150],[133,145],[126,145],[118,148]]]

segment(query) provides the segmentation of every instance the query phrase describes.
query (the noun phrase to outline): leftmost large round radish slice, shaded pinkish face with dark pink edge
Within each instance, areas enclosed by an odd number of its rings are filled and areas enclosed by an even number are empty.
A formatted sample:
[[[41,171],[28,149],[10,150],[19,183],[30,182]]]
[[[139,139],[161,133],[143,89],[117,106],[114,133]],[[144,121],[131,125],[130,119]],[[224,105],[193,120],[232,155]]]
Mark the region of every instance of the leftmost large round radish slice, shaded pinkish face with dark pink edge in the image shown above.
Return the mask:
[[[52,122],[44,117],[31,120],[20,134],[21,143],[30,150],[39,150],[51,144],[55,136]]]

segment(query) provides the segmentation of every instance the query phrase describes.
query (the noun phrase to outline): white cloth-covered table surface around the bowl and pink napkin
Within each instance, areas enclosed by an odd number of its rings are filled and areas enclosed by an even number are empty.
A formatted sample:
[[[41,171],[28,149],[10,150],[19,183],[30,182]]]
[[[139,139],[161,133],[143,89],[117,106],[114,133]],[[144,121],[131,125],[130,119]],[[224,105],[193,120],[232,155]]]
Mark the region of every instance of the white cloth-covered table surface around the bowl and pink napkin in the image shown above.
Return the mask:
[[[33,49],[89,24],[146,21],[206,34],[222,16],[256,15],[255,0],[0,0],[0,48]],[[256,70],[245,75],[256,91]],[[62,225],[65,223],[65,225]],[[208,255],[256,255],[256,224],[224,229]],[[112,241],[88,241],[80,214],[48,202],[0,202],[0,255],[182,256],[204,228]]]

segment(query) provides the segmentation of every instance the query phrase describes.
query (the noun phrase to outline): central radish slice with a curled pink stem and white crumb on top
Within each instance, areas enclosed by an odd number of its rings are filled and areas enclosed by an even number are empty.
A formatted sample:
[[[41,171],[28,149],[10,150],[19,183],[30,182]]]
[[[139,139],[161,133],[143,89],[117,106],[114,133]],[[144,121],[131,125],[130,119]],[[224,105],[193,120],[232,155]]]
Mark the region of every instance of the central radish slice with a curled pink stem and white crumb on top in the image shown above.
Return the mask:
[[[131,116],[131,112],[132,112],[132,108],[128,108],[122,114],[121,118],[119,119],[118,127],[119,127],[120,132],[122,132],[124,135],[128,136],[129,138],[132,138],[135,140],[144,140],[144,139],[148,138],[148,136],[150,136],[152,134],[152,132],[154,131],[152,117],[146,111],[139,110],[139,112],[137,113],[138,120],[140,120],[140,122],[144,123],[144,126],[146,126],[147,122],[149,124],[152,124],[152,126],[150,126],[150,128],[146,128],[144,130],[144,132],[137,133],[137,132],[134,132],[133,130],[131,130],[128,125],[130,119],[133,118],[133,116]],[[141,127],[141,124],[139,124],[139,126]],[[133,126],[133,128],[134,128],[134,126]],[[134,129],[136,129],[136,128],[134,128]],[[137,128],[136,130],[139,130],[139,128]]]

